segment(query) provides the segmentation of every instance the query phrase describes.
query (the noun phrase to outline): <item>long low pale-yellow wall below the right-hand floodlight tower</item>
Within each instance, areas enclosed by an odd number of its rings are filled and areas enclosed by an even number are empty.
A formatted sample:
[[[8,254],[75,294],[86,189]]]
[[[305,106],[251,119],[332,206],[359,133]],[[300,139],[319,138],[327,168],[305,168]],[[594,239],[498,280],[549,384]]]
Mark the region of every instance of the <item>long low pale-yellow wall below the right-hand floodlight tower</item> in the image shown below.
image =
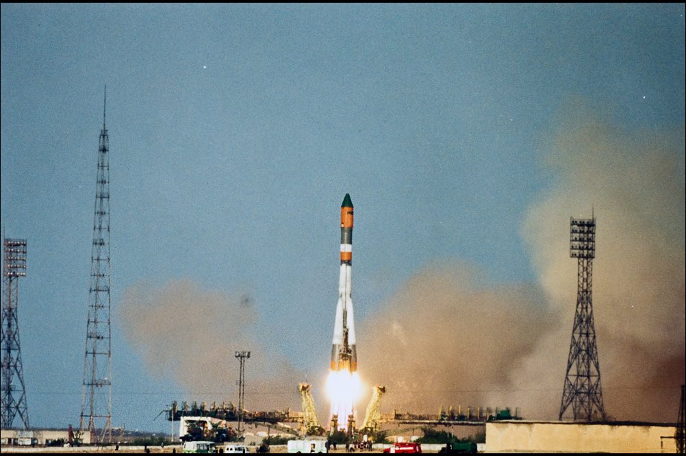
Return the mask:
[[[489,422],[486,452],[674,453],[675,432],[656,423]]]

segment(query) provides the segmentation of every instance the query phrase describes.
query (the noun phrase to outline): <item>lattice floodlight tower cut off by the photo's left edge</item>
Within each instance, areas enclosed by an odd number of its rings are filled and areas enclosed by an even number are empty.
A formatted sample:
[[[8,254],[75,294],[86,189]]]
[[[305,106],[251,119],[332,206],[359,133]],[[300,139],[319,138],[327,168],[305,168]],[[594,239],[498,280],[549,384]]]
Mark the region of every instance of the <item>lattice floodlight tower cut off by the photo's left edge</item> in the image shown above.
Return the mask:
[[[4,239],[2,300],[2,407],[1,427],[10,429],[19,416],[23,429],[29,427],[24,374],[21,368],[19,320],[19,278],[26,276],[26,240]]]

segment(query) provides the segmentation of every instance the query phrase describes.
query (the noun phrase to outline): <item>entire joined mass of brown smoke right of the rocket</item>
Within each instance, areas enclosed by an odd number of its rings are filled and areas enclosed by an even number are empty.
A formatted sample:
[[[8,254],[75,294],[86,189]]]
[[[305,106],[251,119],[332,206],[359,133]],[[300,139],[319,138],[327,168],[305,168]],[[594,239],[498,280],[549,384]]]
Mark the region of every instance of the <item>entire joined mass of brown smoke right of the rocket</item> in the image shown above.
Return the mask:
[[[557,418],[576,304],[569,217],[595,211],[606,412],[676,418],[685,372],[683,128],[628,134],[571,111],[545,156],[558,179],[521,230],[540,286],[480,287],[464,265],[427,267],[363,322],[360,365],[366,381],[388,385],[386,410],[515,406],[527,418]]]

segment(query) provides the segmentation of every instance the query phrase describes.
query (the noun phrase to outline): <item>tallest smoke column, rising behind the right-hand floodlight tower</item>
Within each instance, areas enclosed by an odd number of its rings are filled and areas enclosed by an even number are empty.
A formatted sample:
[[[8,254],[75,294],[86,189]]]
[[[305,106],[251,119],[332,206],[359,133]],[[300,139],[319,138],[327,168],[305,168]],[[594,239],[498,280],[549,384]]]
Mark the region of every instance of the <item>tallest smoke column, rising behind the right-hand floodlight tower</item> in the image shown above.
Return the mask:
[[[683,127],[620,131],[577,106],[561,125],[547,155],[558,182],[530,207],[522,230],[532,262],[563,317],[560,332],[571,335],[569,217],[595,211],[593,310],[606,411],[674,421],[685,376]],[[558,339],[556,352],[565,348]],[[529,376],[549,356],[543,347],[528,361]]]

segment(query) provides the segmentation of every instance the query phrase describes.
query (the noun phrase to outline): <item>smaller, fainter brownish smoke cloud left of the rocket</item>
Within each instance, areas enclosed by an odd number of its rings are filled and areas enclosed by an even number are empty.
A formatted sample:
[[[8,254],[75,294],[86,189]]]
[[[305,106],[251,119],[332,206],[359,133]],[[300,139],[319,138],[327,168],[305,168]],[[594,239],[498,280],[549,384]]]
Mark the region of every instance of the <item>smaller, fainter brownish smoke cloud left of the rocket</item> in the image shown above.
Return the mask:
[[[119,318],[150,373],[171,376],[189,394],[179,400],[235,403],[239,363],[234,354],[248,350],[246,408],[299,404],[300,376],[285,357],[265,350],[254,337],[263,332],[248,295],[204,290],[191,280],[162,287],[141,283],[126,289]]]

